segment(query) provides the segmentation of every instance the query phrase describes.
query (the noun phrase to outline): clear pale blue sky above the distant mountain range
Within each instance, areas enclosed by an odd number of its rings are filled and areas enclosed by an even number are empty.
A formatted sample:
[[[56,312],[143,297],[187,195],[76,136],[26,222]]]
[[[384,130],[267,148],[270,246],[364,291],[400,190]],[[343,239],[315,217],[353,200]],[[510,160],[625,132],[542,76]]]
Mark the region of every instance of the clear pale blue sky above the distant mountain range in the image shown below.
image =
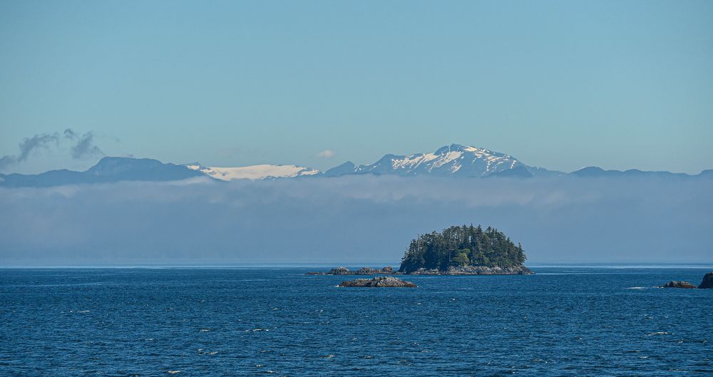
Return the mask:
[[[711,1],[2,1],[0,156],[713,168]],[[6,171],[81,169],[40,150]],[[333,150],[334,157],[318,157]]]

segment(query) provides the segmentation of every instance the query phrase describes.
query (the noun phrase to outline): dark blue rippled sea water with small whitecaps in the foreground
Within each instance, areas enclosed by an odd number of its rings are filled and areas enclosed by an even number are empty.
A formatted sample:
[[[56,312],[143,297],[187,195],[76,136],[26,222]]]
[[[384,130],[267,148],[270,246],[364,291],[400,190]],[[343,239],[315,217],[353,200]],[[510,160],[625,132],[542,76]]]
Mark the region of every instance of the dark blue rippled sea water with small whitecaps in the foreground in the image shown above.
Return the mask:
[[[305,271],[0,270],[0,376],[713,376],[706,269]]]

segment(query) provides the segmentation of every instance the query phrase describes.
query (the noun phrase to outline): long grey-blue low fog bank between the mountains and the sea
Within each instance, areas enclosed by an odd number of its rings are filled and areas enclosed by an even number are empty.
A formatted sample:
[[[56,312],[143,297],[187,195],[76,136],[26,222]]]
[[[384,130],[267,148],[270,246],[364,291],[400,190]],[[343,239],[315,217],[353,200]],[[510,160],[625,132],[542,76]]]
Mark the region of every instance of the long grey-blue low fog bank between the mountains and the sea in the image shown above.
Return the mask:
[[[397,263],[483,224],[530,262],[712,262],[713,180],[347,176],[0,189],[3,264]]]

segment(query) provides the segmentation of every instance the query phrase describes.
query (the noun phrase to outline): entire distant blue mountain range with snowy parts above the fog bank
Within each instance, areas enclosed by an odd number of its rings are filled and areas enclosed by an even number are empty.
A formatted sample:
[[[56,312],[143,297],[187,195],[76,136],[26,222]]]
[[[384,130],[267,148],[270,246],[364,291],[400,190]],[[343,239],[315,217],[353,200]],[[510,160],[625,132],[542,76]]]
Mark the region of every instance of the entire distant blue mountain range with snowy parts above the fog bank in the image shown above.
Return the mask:
[[[212,180],[269,180],[278,178],[341,177],[344,175],[399,175],[404,177],[662,177],[672,179],[713,178],[713,170],[704,170],[698,175],[665,171],[603,170],[600,167],[585,167],[565,173],[543,167],[525,165],[511,155],[491,150],[445,145],[434,153],[413,155],[384,155],[367,165],[354,165],[347,161],[325,172],[297,165],[252,165],[243,167],[208,167],[198,162],[190,164],[163,163],[149,158],[103,157],[96,165],[83,172],[51,170],[37,175],[0,174],[0,186],[5,187],[51,187],[83,183],[107,183],[125,180],[171,181],[196,177]]]

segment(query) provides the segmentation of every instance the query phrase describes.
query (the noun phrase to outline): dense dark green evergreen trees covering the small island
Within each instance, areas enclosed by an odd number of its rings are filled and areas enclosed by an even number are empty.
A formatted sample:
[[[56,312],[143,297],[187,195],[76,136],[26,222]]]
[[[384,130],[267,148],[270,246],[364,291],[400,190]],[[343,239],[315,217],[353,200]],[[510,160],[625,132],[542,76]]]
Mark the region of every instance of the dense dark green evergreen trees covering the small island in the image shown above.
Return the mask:
[[[510,237],[498,229],[480,225],[463,225],[443,229],[443,232],[422,234],[411,240],[401,259],[399,271],[410,273],[417,269],[448,267],[515,267],[525,262],[522,245],[515,245]]]

